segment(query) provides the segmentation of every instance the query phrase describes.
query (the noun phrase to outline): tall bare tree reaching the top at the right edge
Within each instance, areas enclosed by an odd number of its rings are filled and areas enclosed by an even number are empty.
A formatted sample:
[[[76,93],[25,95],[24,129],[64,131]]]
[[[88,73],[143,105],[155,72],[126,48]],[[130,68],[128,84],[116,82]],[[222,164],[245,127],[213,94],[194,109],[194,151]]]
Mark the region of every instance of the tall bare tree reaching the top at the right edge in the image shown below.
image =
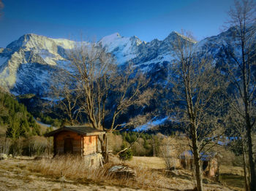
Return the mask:
[[[252,151],[252,127],[255,125],[255,116],[252,109],[255,107],[256,76],[255,67],[255,34],[256,11],[255,3],[249,0],[235,1],[230,9],[228,26],[233,31],[232,42],[225,42],[225,53],[230,57],[226,64],[226,71],[230,82],[236,90],[236,96],[243,101],[243,110],[239,111],[238,103],[233,104],[234,109],[244,119],[251,174],[250,189],[256,190],[255,162]],[[233,47],[232,44],[236,45]],[[234,96],[231,94],[230,96]]]

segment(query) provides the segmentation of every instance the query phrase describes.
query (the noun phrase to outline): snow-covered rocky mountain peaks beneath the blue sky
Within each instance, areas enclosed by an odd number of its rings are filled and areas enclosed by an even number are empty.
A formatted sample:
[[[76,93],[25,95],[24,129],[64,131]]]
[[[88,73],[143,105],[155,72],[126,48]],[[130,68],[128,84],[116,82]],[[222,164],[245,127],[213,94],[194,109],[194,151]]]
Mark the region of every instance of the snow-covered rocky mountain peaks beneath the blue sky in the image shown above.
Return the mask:
[[[223,58],[222,46],[232,35],[232,29],[200,42],[171,32],[164,40],[143,42],[137,36],[124,37],[118,33],[105,36],[98,45],[111,52],[117,64],[135,63],[156,82],[165,79],[166,65],[173,60],[173,46],[177,38],[197,46],[200,54],[208,53]],[[86,42],[89,44],[89,42]],[[67,39],[51,39],[37,34],[25,34],[18,40],[0,48],[0,86],[15,95],[36,93],[43,95],[50,85],[50,75],[56,66],[67,63],[68,50],[77,42]],[[164,71],[165,70],[165,71]]]

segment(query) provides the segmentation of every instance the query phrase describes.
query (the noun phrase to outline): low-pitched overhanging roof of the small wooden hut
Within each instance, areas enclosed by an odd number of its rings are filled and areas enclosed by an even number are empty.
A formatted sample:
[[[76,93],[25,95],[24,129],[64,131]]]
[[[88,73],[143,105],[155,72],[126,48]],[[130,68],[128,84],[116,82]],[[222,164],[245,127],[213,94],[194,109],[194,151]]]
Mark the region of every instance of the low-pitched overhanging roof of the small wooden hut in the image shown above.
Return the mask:
[[[88,125],[76,125],[76,126],[67,126],[65,125],[63,128],[59,128],[53,131],[50,131],[49,133],[45,133],[45,136],[54,136],[56,133],[59,133],[64,130],[69,130],[75,133],[78,133],[80,135],[84,136],[95,136],[95,135],[102,135],[105,134],[104,130],[98,130],[95,128],[91,128]]]

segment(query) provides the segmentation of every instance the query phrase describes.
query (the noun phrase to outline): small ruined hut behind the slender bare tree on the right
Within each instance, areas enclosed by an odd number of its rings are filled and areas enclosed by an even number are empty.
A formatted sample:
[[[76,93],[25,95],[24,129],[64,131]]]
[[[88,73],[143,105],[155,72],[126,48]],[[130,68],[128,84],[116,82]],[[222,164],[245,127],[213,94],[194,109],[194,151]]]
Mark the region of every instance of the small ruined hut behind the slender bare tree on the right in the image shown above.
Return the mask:
[[[200,153],[200,161],[203,173],[206,176],[215,177],[218,175],[218,157],[216,152]],[[194,157],[192,151],[185,151],[180,155],[180,162],[183,168],[192,169],[194,165]]]

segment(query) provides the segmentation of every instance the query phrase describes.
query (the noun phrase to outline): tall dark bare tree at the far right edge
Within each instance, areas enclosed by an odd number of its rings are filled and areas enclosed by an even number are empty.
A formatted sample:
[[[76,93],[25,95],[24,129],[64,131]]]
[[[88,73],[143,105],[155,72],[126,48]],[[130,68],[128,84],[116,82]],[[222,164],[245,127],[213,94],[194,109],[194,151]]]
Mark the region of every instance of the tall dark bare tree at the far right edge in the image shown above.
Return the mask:
[[[236,32],[234,33],[234,42],[239,40],[238,45],[241,47],[241,55],[236,52],[231,52],[234,63],[238,66],[238,71],[241,71],[241,86],[238,85],[238,89],[241,98],[244,101],[244,123],[246,125],[246,137],[248,147],[248,159],[249,159],[249,174],[250,174],[250,190],[256,190],[256,173],[255,173],[255,161],[253,159],[252,152],[252,113],[251,104],[253,97],[255,96],[255,77],[252,74],[252,66],[255,62],[255,2],[252,0],[234,1],[234,7],[230,8],[229,16],[230,26],[233,27]],[[239,48],[240,48],[239,47]],[[240,59],[241,58],[241,59]],[[239,73],[239,72],[238,72]],[[236,75],[232,74],[232,75]],[[236,79],[232,80],[237,83]]]

